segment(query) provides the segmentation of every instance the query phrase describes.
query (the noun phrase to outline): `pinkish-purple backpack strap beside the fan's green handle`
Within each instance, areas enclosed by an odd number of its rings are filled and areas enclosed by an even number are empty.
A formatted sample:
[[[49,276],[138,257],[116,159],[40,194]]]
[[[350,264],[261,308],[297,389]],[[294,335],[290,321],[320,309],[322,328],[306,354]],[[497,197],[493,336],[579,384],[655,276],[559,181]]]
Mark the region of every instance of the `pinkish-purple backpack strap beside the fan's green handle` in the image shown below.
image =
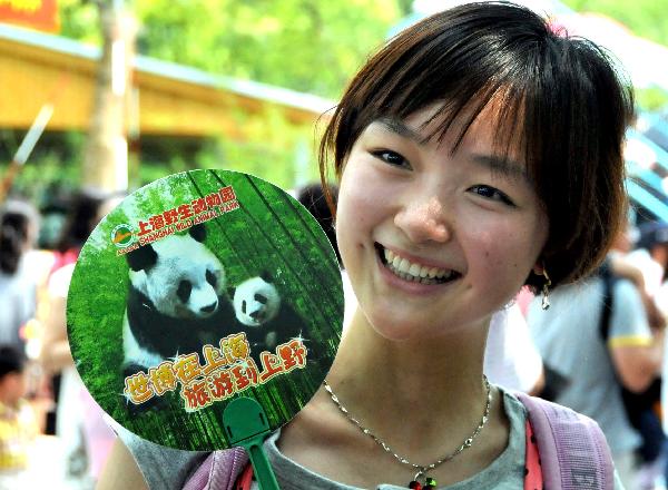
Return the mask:
[[[248,454],[242,448],[214,451],[190,476],[184,490],[234,490],[246,465]]]

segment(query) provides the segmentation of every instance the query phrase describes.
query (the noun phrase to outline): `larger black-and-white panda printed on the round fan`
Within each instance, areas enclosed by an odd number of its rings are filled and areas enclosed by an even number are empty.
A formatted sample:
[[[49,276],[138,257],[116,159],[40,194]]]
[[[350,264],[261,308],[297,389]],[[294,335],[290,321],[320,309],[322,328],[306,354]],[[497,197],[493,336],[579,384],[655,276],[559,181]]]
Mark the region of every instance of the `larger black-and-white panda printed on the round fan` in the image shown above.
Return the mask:
[[[235,324],[225,270],[204,245],[203,224],[126,255],[129,293],[122,327],[124,376],[217,343]]]

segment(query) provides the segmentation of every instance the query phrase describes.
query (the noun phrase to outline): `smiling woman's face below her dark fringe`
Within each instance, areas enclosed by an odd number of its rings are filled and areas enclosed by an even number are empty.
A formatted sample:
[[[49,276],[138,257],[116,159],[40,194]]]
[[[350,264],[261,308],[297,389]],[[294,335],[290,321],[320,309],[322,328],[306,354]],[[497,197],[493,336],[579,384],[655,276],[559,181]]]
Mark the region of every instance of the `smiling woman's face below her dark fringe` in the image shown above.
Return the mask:
[[[460,128],[428,138],[434,110],[380,119],[345,164],[336,233],[370,323],[387,339],[483,325],[522,286],[548,235],[524,165],[494,151],[485,109],[451,153]]]

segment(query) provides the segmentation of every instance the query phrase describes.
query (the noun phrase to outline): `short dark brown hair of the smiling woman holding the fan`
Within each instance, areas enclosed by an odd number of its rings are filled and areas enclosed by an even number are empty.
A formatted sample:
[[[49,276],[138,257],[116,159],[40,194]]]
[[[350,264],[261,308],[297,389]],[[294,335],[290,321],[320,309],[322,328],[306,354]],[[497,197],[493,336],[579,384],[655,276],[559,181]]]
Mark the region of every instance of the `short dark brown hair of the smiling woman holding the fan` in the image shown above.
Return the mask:
[[[354,143],[381,117],[404,119],[440,102],[443,122],[432,136],[464,120],[454,151],[479,114],[499,101],[499,149],[520,141],[549,217],[540,258],[553,285],[580,278],[602,261],[626,219],[622,145],[632,89],[601,48],[523,7],[460,6],[392,38],[333,112],[320,147],[321,178],[326,185],[330,169],[341,177]],[[527,284],[536,291],[543,281],[531,274]]]

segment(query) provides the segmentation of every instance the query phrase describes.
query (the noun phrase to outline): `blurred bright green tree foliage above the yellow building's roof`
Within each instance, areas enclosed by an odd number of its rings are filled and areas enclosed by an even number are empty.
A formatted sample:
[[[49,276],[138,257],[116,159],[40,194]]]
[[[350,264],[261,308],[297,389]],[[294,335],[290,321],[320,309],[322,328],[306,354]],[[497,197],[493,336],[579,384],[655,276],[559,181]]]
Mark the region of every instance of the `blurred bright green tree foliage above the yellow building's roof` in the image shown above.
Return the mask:
[[[406,0],[127,0],[137,51],[336,98]],[[60,0],[62,35],[100,43],[90,0]]]

